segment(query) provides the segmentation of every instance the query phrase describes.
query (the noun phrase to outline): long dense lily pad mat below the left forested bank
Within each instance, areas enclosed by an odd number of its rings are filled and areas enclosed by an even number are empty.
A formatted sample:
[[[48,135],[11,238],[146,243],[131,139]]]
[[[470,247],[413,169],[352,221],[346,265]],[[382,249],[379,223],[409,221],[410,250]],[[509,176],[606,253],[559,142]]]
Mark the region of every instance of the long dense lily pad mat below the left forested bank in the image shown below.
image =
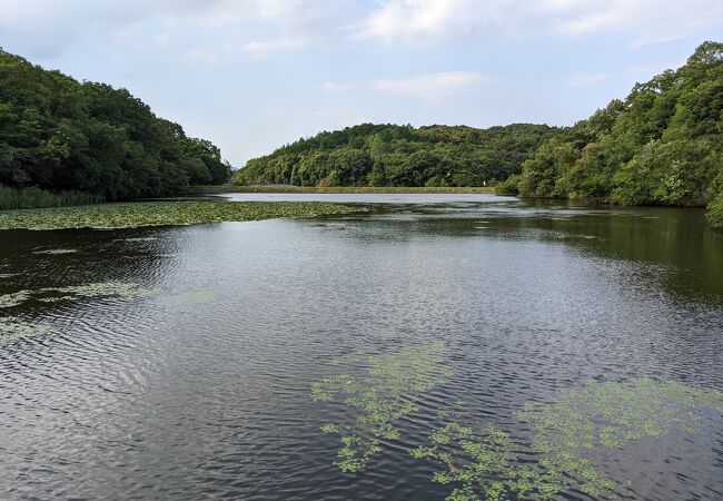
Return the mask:
[[[0,229],[137,228],[270,218],[305,218],[363,210],[338,204],[165,200],[2,210]]]

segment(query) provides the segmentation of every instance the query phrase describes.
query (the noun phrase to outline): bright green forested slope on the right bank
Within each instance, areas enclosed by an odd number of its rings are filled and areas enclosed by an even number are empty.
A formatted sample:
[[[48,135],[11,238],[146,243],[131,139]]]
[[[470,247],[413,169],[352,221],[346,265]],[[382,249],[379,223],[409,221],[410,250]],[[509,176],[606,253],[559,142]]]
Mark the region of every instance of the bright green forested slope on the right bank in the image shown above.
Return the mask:
[[[499,193],[709,207],[723,226],[723,43],[547,139]]]

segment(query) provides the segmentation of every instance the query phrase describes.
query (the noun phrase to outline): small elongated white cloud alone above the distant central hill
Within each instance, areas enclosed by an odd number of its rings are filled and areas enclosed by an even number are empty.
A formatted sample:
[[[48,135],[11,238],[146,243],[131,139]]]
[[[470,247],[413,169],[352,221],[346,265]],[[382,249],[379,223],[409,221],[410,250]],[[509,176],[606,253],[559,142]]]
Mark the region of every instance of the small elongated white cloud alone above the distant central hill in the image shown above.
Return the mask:
[[[487,81],[486,77],[474,71],[447,71],[396,80],[377,80],[373,89],[383,94],[437,99],[476,89]]]

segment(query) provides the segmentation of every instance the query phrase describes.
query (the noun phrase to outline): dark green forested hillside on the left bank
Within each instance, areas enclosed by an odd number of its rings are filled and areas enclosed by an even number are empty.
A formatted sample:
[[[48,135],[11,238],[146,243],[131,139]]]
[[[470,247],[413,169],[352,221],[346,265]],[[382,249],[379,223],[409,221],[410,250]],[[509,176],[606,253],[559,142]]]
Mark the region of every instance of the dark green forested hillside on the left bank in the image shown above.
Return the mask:
[[[0,185],[103,199],[221,184],[219,149],[156,117],[126,89],[78,82],[0,49]]]

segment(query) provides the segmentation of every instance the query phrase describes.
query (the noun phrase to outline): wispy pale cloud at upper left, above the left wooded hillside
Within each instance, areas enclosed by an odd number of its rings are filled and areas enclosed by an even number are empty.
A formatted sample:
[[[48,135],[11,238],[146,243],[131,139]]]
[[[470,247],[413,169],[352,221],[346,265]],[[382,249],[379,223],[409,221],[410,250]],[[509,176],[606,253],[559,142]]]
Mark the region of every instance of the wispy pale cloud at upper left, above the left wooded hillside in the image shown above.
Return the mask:
[[[343,8],[349,1],[0,0],[0,46],[22,48],[30,52],[28,56],[57,56],[77,42],[97,43],[106,39],[162,45],[174,36],[182,40],[195,33],[197,39],[206,39],[208,31],[215,30],[232,37],[232,30],[238,33],[260,28],[264,40],[239,45],[238,50],[263,56],[296,49],[299,39],[336,32]],[[197,51],[204,50],[207,49]],[[216,51],[222,50],[220,41]]]

